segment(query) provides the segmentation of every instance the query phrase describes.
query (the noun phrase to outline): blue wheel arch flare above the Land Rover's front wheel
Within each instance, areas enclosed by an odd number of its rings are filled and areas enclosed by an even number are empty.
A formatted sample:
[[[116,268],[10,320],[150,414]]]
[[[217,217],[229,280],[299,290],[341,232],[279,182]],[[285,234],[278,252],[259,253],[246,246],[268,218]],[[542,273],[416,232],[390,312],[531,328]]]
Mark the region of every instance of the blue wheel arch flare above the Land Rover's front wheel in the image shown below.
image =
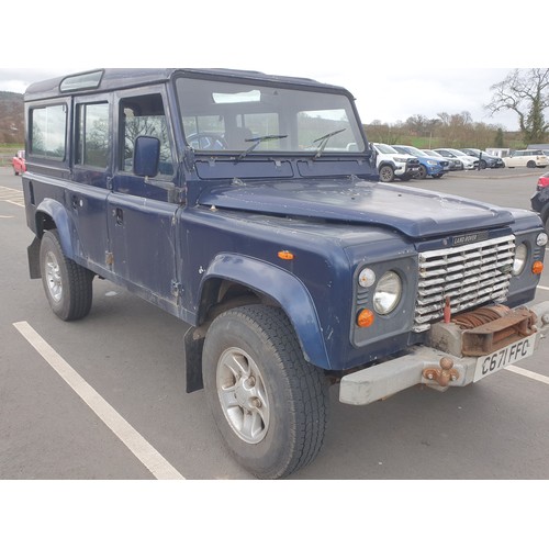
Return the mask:
[[[244,284],[278,302],[293,325],[305,360],[329,369],[316,307],[300,279],[276,265],[237,254],[216,256],[202,279],[201,290],[212,278]]]

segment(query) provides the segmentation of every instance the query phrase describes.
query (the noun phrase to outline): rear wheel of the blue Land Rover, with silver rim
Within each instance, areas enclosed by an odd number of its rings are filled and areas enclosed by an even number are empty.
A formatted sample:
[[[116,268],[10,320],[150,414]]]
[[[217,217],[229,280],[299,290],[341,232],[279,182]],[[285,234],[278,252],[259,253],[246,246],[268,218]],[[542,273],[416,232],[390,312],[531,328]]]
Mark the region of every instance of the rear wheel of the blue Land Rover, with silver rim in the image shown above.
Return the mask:
[[[40,266],[53,312],[63,321],[83,318],[91,309],[93,273],[65,257],[56,229],[42,236]]]

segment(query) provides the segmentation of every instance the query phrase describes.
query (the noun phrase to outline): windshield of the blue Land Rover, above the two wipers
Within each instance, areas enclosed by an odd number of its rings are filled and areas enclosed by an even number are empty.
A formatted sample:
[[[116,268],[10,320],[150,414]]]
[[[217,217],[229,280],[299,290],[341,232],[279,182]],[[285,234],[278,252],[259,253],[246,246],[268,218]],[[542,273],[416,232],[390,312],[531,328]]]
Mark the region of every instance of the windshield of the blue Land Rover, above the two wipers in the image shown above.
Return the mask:
[[[187,143],[195,152],[365,152],[347,96],[266,83],[179,78]],[[244,153],[244,155],[243,155]]]

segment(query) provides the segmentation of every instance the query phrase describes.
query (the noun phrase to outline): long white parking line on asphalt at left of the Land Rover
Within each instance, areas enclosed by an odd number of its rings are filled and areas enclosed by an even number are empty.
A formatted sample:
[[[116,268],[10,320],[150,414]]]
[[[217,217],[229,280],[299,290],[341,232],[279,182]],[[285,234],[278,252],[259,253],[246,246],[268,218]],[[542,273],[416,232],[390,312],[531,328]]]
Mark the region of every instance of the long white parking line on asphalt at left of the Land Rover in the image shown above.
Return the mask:
[[[156,479],[184,480],[27,322],[16,322],[13,326]]]

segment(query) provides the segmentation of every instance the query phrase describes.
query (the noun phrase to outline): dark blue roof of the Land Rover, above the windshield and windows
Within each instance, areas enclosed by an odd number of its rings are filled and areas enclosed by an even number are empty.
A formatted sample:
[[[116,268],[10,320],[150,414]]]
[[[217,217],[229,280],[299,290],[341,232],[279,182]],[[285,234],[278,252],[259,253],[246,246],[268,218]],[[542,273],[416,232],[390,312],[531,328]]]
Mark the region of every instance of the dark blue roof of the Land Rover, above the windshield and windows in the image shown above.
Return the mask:
[[[99,86],[94,89],[82,89],[76,91],[61,92],[59,86],[68,77],[81,76],[102,71],[102,77]],[[310,78],[298,78],[287,76],[267,75],[255,70],[236,70],[222,68],[103,68],[76,72],[71,75],[63,75],[48,80],[32,83],[25,91],[25,101],[36,99],[47,99],[60,96],[74,96],[81,93],[101,93],[103,91],[119,90],[124,88],[133,88],[136,86],[166,82],[175,74],[192,75],[195,77],[209,78],[235,78],[246,80],[261,80],[279,83],[289,83],[298,86],[314,86],[338,91],[346,91],[339,86],[321,83]],[[348,93],[348,92],[347,92]]]

